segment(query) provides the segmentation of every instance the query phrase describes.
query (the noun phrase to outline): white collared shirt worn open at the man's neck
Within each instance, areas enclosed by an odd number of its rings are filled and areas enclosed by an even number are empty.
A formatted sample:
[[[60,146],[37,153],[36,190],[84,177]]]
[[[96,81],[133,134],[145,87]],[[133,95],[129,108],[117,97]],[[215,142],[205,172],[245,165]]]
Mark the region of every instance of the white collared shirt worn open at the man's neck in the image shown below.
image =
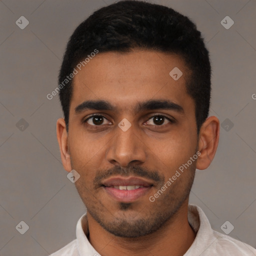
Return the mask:
[[[76,239],[69,242],[63,248],[50,254],[50,256],[100,256],[89,243],[88,222],[85,233],[82,229],[81,220],[84,213],[76,224]],[[238,241],[228,235],[213,230],[202,209],[194,204],[188,204],[188,222],[196,233],[196,237],[183,256],[255,256],[256,249]]]

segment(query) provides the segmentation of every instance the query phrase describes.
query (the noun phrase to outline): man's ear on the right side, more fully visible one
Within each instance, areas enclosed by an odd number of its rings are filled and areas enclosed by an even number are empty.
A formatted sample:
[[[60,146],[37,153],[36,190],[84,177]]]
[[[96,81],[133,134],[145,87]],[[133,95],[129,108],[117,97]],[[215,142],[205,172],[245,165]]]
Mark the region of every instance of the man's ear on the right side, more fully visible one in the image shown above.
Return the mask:
[[[206,169],[217,150],[219,139],[219,120],[216,116],[209,116],[202,124],[199,132],[198,155],[196,168]]]

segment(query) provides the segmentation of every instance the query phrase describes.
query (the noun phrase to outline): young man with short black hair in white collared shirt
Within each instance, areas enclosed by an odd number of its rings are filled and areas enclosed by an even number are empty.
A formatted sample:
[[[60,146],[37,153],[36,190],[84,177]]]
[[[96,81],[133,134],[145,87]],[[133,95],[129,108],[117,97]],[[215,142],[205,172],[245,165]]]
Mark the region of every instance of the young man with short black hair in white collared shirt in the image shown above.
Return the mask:
[[[210,73],[196,26],[165,6],[119,1],[75,29],[57,138],[87,213],[52,256],[255,255],[188,204],[219,139]]]

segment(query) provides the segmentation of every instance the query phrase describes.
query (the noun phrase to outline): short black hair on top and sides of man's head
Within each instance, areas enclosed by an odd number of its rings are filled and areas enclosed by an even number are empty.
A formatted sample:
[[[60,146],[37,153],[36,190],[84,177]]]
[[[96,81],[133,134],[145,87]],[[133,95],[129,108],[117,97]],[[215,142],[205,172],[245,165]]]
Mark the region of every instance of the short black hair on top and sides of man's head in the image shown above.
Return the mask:
[[[187,17],[167,6],[122,0],[94,11],[70,36],[59,71],[63,84],[77,63],[95,52],[130,52],[133,48],[178,54],[190,71],[186,92],[195,102],[197,134],[208,116],[211,67],[200,31]],[[170,78],[171,79],[171,78]],[[59,91],[66,128],[72,79]]]

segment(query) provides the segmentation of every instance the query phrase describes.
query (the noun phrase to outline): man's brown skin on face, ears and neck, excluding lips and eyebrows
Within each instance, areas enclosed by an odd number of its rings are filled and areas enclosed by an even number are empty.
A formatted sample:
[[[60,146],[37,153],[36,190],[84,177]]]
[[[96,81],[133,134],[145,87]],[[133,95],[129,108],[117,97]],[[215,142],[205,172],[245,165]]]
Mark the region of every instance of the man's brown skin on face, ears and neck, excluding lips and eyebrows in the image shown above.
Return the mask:
[[[183,73],[176,81],[169,75],[174,67]],[[195,238],[187,220],[189,191],[195,168],[207,168],[215,155],[219,120],[208,117],[197,136],[187,79],[189,70],[179,56],[141,49],[98,53],[73,78],[68,133],[64,119],[59,118],[57,139],[65,170],[80,174],[75,186],[87,208],[88,239],[102,256],[179,256]],[[115,109],[75,113],[83,101],[99,99]],[[135,111],[137,102],[149,99],[171,100],[183,112]],[[102,124],[97,125],[93,118],[82,122],[93,113],[105,117]],[[174,122],[164,119],[159,124],[154,115],[165,115]],[[123,118],[131,124],[126,131],[118,127]],[[149,196],[196,151],[201,153],[197,160],[151,202]],[[142,176],[153,186],[134,202],[117,202],[95,182],[117,175]]]

